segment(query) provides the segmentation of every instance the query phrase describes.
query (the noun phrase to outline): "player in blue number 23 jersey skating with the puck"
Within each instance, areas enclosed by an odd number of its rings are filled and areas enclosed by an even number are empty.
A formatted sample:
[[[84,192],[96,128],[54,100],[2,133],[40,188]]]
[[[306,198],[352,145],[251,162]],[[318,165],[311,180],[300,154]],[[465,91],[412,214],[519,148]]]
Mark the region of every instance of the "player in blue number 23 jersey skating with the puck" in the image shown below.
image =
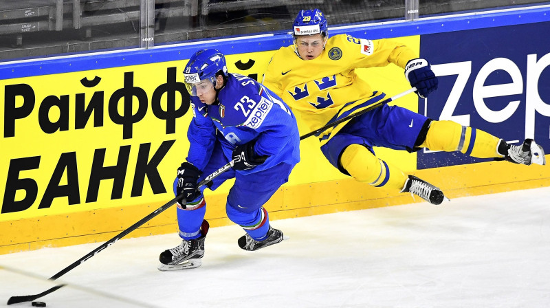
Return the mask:
[[[208,222],[204,187],[198,189],[197,183],[232,159],[233,168],[206,186],[215,190],[235,178],[225,209],[246,232],[239,246],[258,250],[281,242],[283,232],[270,226],[263,204],[288,181],[300,160],[300,135],[289,107],[252,78],[229,74],[221,52],[199,50],[187,63],[184,76],[193,118],[186,162],[177,169],[174,182],[175,195],[186,197],[185,203],[177,203],[183,241],[160,254],[159,270],[201,265]]]

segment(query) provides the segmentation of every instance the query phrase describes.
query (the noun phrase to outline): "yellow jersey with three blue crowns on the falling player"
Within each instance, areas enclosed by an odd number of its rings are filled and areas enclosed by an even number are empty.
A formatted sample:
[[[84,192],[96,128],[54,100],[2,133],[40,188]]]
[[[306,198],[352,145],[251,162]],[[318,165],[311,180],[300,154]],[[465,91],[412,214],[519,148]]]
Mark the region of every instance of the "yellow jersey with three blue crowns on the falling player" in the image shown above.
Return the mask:
[[[281,47],[267,66],[263,84],[280,96],[294,111],[300,133],[309,133],[371,105],[368,100],[382,93],[355,74],[357,68],[394,63],[404,68],[418,56],[409,47],[390,39],[371,41],[340,34],[332,36],[322,54],[305,61],[295,46]],[[372,100],[376,102],[376,99]],[[347,124],[322,132],[321,145]]]

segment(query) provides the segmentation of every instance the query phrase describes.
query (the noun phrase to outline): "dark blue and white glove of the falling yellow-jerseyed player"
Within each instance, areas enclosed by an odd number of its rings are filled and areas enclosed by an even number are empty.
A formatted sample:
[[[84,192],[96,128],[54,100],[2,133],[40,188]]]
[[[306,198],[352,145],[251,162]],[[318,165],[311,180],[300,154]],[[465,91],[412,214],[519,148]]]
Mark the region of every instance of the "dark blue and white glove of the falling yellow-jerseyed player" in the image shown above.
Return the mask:
[[[437,90],[437,77],[425,59],[408,61],[405,66],[405,77],[412,87],[417,88],[417,94],[421,98],[427,98],[430,93]]]

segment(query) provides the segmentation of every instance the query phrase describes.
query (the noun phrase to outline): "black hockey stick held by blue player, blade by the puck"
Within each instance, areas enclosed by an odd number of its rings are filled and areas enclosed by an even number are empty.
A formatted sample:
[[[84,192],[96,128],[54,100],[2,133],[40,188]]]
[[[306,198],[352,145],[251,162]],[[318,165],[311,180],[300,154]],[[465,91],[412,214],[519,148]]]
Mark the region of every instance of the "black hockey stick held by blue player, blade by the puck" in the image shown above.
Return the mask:
[[[212,181],[212,179],[214,179],[214,177],[217,177],[218,175],[221,175],[221,173],[224,173],[225,171],[229,170],[234,164],[235,164],[235,160],[232,160],[231,162],[229,162],[228,164],[225,164],[224,166],[222,166],[218,170],[215,170],[214,173],[212,173],[211,175],[208,175],[208,177],[206,177],[205,179],[200,181],[199,184],[197,185],[197,187],[201,187],[201,186],[207,184],[209,181]],[[115,243],[115,241],[118,241],[119,239],[122,239],[122,237],[126,236],[126,234],[129,234],[130,232],[132,232],[133,230],[139,228],[141,225],[143,225],[147,221],[150,221],[151,219],[153,219],[153,217],[156,217],[158,214],[164,212],[164,210],[166,210],[167,208],[170,208],[170,206],[173,206],[177,202],[177,200],[179,200],[182,197],[183,197],[183,194],[181,194],[181,195],[175,197],[174,199],[168,201],[168,203],[164,204],[164,206],[161,206],[160,208],[157,208],[157,210],[155,210],[155,212],[152,212],[151,214],[148,214],[142,220],[137,221],[137,223],[134,223],[133,225],[131,225],[131,227],[127,228],[126,230],[124,230],[122,232],[120,232],[120,234],[118,234],[117,236],[113,237],[109,241],[106,241],[105,243],[100,245],[98,248],[96,248],[95,250],[92,250],[91,252],[89,252],[88,254],[83,256],[82,258],[78,259],[77,261],[75,261],[71,265],[65,267],[63,270],[61,270],[61,272],[58,272],[57,274],[50,277],[49,279],[51,281],[54,281],[57,278],[67,274],[67,272],[69,272],[70,270],[72,270],[75,267],[77,267],[78,265],[82,264],[84,261],[90,259],[92,256],[95,256],[96,254],[98,254],[98,252],[104,250],[105,248],[109,247],[110,245],[113,245],[113,243]],[[65,285],[56,285],[55,287],[47,289],[46,291],[44,291],[40,294],[25,295],[25,296],[12,296],[8,300],[8,305],[23,303],[23,302],[31,302],[33,300],[36,300],[36,298],[41,298],[42,296],[50,294],[50,293],[52,293],[52,292],[56,291],[57,289],[60,289],[61,287],[64,287],[64,286]]]

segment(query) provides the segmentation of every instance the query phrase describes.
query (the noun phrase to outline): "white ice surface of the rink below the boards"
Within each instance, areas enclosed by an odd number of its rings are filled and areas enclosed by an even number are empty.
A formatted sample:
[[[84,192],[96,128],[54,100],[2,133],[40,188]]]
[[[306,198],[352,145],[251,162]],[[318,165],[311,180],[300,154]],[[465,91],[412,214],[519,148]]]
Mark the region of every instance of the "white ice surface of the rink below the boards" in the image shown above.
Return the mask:
[[[290,239],[257,252],[236,245],[236,225],[211,228],[203,265],[179,272],[156,268],[177,234],[123,239],[54,282],[0,268],[0,307],[64,282],[39,300],[52,308],[546,308],[549,205],[550,187],[272,221]],[[0,266],[48,278],[97,246],[5,254]]]

